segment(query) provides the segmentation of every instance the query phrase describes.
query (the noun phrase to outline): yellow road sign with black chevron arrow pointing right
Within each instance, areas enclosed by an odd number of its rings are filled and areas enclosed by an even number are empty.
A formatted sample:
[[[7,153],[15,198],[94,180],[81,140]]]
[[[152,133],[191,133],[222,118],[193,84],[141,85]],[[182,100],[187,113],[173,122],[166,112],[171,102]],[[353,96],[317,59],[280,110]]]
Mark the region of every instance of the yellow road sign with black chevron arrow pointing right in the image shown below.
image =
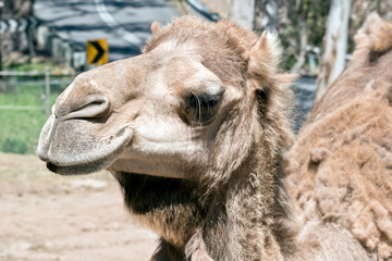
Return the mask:
[[[87,41],[87,64],[101,65],[109,62],[109,48],[107,39]]]

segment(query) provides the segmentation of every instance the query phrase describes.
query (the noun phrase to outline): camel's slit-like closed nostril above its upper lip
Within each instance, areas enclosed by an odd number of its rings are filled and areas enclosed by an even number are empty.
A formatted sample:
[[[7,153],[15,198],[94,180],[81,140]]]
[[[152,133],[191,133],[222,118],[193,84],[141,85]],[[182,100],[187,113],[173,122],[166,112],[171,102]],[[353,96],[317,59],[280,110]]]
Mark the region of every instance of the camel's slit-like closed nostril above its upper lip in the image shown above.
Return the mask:
[[[70,108],[71,109],[71,108]],[[68,113],[64,113],[60,110],[61,113],[56,113],[57,117],[62,120],[69,119],[97,119],[103,117],[110,112],[110,102],[106,97],[96,97],[91,96],[85,99],[84,103],[73,105],[73,110],[68,110]]]

